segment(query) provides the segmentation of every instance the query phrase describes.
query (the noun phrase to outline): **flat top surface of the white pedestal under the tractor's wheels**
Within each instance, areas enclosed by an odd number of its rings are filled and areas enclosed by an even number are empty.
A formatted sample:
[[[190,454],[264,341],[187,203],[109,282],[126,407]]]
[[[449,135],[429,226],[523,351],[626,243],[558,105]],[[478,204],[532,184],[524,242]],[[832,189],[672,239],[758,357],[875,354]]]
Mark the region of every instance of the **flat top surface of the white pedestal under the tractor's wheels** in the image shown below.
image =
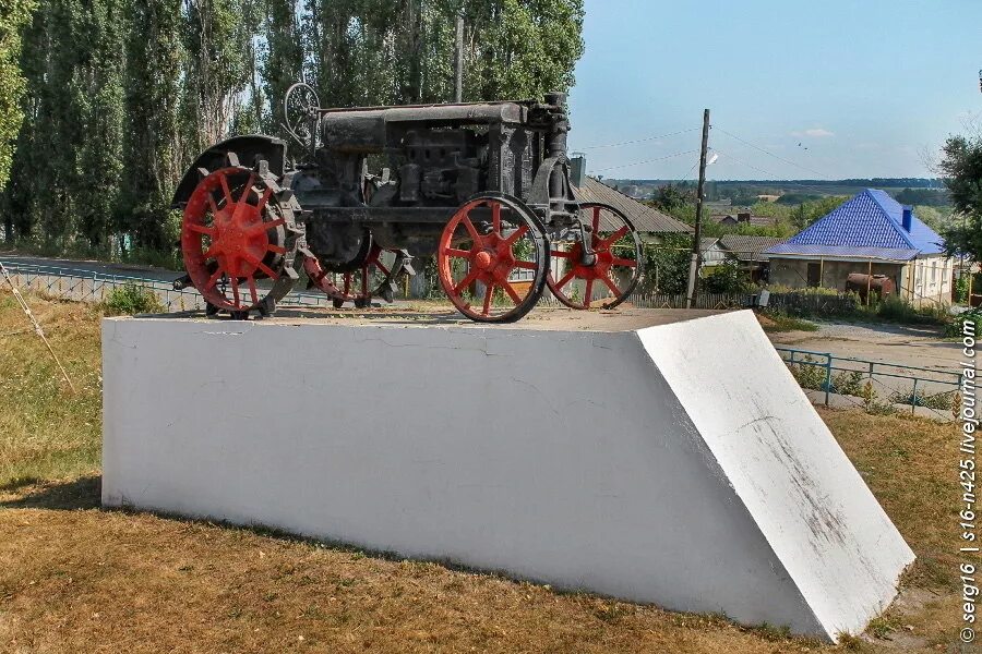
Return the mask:
[[[716,310],[682,308],[614,308],[611,311],[574,311],[565,307],[537,307],[522,320],[505,325],[488,325],[475,323],[462,316],[452,307],[427,305],[424,307],[391,306],[368,310],[330,310],[321,307],[277,310],[276,316],[255,320],[262,325],[297,325],[322,324],[348,327],[464,327],[519,329],[541,331],[597,331],[618,332],[635,331],[646,327],[671,325],[695,318],[726,313]],[[183,312],[176,314],[143,315],[134,317],[121,316],[121,320],[193,320],[208,324],[231,323],[227,317],[207,318],[204,312]]]

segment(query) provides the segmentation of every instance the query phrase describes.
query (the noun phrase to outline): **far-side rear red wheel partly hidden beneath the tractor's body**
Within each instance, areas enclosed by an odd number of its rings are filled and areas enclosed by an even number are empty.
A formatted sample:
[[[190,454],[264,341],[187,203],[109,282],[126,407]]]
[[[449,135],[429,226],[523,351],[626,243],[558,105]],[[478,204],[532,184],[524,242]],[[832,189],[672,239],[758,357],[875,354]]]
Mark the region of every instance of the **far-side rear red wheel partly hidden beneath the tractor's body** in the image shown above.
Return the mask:
[[[372,244],[361,266],[335,272],[324,269],[315,257],[307,257],[303,268],[313,287],[331,296],[334,307],[354,302],[357,308],[371,304],[372,298],[393,301],[393,279],[403,272],[409,256],[399,250],[385,250]]]

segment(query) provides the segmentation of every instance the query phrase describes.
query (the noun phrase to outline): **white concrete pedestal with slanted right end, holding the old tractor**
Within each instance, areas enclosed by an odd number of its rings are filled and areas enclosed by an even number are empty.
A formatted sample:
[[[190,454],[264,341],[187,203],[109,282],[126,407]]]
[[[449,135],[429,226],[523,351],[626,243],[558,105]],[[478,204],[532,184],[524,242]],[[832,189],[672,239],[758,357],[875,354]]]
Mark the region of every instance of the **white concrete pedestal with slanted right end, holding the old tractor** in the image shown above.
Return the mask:
[[[103,356],[107,507],[829,640],[914,558],[749,312],[110,318]]]

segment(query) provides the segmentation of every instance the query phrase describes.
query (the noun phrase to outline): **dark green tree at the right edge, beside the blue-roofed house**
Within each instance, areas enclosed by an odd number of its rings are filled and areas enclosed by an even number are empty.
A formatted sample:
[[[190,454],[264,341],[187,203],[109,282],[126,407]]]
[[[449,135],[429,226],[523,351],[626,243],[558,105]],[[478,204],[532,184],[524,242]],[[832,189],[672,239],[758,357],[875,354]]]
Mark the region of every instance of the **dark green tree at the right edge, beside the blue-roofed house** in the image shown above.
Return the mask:
[[[982,136],[951,136],[939,165],[958,219],[942,235],[948,254],[982,261]]]

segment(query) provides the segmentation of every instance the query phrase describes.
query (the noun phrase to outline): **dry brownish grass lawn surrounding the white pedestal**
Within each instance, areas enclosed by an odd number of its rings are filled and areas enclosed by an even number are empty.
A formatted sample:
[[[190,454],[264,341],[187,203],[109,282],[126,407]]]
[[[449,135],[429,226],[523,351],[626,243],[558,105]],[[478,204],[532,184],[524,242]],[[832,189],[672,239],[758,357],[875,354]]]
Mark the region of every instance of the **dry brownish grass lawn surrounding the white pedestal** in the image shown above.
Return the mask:
[[[0,337],[0,652],[945,651],[958,613],[951,425],[822,411],[917,550],[901,603],[838,647],[436,564],[98,507],[98,314],[32,300]],[[0,334],[24,329],[0,294]],[[10,397],[11,391],[16,390]],[[47,480],[31,483],[32,479]],[[941,650],[938,650],[941,647]]]

